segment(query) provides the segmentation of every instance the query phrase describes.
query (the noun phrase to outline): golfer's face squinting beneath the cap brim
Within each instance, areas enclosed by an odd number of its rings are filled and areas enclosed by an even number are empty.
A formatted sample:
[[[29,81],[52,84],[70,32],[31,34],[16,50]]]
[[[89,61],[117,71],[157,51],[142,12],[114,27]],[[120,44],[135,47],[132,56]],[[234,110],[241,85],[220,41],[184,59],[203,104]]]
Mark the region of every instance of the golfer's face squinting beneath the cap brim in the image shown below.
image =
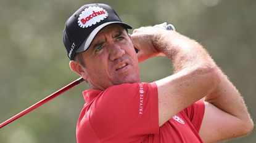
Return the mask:
[[[102,29],[83,56],[93,88],[104,90],[112,85],[140,82],[133,43],[120,25]]]

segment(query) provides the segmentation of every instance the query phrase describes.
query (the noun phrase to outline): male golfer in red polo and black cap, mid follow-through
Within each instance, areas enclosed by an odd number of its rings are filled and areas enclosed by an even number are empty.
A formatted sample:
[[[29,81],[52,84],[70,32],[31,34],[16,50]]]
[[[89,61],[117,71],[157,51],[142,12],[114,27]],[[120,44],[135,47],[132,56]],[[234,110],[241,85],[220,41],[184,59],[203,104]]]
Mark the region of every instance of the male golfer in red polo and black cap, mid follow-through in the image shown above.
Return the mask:
[[[217,142],[252,131],[239,92],[202,45],[175,31],[127,29],[105,4],[86,4],[67,20],[70,68],[91,87],[77,142]],[[138,63],[158,55],[175,73],[141,82]]]

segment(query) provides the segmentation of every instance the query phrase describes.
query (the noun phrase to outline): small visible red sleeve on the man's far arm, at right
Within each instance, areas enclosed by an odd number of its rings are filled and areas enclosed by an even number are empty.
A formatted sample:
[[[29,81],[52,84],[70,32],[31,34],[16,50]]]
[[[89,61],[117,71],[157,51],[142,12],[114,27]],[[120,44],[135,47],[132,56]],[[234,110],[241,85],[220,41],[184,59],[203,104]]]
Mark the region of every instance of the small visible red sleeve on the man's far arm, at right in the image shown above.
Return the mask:
[[[199,133],[202,120],[204,118],[205,104],[204,101],[199,100],[185,109],[185,113],[191,121],[192,125]]]

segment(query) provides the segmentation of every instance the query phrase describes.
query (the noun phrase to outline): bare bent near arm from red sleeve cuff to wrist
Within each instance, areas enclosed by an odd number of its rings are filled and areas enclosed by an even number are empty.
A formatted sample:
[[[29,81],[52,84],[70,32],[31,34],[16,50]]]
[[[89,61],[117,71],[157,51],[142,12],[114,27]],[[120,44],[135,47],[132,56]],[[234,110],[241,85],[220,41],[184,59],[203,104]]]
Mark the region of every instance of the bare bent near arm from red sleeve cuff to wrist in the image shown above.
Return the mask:
[[[157,80],[159,93],[159,126],[172,115],[180,112],[193,102],[212,93],[217,87],[219,77],[217,66],[200,44],[180,34],[163,45],[161,51],[170,58],[175,74]]]

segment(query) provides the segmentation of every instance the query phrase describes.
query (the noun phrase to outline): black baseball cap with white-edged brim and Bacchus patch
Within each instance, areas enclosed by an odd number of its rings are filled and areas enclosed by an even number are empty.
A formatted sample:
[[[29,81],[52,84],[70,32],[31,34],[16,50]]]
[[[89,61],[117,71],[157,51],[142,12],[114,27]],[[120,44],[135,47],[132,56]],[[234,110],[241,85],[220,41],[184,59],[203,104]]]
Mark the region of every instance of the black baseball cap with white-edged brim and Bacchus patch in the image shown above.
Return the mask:
[[[107,25],[117,23],[125,29],[130,25],[122,22],[115,10],[107,4],[86,4],[68,18],[63,32],[63,42],[70,60],[76,53],[84,52],[99,31]]]

